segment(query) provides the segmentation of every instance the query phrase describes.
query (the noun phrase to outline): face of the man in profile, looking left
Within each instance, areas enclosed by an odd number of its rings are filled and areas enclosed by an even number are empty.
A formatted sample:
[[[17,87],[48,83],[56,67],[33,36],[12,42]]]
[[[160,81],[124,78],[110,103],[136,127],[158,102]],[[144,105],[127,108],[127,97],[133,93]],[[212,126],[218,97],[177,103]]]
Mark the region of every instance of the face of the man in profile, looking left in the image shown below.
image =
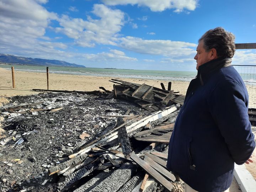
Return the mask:
[[[210,58],[211,56],[211,52],[206,52],[206,50],[204,49],[204,42],[203,40],[199,41],[198,46],[197,46],[197,54],[194,57],[194,59],[197,60],[197,66],[196,69],[198,70],[198,67],[204,63],[209,62],[210,60],[212,60]]]

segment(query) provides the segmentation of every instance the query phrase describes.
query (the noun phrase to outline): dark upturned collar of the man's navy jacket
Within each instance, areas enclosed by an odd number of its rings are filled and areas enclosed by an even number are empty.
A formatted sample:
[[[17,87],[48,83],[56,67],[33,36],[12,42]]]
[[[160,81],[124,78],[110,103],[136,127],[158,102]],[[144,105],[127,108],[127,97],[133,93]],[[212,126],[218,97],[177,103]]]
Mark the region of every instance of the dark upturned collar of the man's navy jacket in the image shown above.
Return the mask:
[[[201,85],[204,85],[203,80],[206,80],[207,77],[214,71],[230,66],[231,61],[231,58],[218,58],[200,65],[197,71],[197,78],[200,79]]]

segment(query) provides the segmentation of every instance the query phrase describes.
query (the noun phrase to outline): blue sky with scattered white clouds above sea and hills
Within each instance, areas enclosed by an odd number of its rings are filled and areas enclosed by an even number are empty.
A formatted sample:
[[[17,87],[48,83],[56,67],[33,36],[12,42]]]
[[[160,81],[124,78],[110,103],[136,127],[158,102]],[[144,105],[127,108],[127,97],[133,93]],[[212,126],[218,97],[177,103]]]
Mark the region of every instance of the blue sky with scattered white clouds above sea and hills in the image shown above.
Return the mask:
[[[198,39],[223,27],[256,43],[255,0],[0,0],[0,53],[95,68],[196,71]],[[256,49],[233,64],[256,65]]]

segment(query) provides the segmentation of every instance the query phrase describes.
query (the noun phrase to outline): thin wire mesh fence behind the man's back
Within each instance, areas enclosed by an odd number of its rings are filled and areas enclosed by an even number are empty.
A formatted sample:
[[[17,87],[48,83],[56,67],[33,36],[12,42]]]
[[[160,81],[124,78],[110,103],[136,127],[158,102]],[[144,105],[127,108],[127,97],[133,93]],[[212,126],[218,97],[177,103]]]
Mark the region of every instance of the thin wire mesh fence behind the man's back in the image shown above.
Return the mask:
[[[256,108],[256,65],[233,65],[241,75],[249,94],[249,108]]]

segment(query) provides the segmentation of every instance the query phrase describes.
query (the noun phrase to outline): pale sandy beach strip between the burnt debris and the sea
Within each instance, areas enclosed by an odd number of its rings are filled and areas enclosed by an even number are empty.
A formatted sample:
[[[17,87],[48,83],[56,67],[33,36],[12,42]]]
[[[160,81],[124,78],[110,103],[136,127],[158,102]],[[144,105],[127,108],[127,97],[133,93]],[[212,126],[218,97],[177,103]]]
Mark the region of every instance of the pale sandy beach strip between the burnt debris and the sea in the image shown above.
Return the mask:
[[[49,74],[50,90],[69,90],[69,91],[94,91],[104,87],[107,90],[113,89],[111,77],[82,76],[67,74]],[[123,78],[124,81],[138,84],[147,84],[161,88],[160,83],[164,83],[166,89],[169,81],[153,79],[130,79]],[[186,94],[189,82],[172,81],[172,90]],[[15,71],[15,88],[12,89],[11,70],[0,68],[0,97],[10,97],[16,95],[33,95],[39,92],[32,89],[47,89],[46,73]]]

